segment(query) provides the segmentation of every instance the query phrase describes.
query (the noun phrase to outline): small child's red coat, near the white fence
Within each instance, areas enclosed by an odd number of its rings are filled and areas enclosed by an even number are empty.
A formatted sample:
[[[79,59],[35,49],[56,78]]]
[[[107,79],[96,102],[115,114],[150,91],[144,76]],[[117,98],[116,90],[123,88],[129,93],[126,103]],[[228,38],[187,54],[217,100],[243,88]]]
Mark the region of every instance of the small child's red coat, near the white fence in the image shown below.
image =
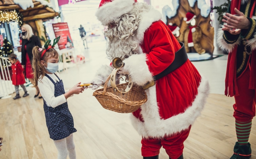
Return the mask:
[[[12,64],[12,84],[20,85],[26,83],[25,77],[23,75],[24,69],[21,66],[20,61],[17,61],[15,64]]]

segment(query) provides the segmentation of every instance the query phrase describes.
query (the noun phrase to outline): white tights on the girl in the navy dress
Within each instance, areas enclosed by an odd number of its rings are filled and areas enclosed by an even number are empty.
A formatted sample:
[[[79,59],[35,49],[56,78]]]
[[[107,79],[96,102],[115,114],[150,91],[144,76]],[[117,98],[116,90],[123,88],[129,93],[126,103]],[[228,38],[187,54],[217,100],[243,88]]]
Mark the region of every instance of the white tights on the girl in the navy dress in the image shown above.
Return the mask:
[[[55,146],[58,149],[58,159],[66,159],[67,154],[69,159],[76,159],[75,144],[73,141],[73,134],[61,140],[54,140]]]

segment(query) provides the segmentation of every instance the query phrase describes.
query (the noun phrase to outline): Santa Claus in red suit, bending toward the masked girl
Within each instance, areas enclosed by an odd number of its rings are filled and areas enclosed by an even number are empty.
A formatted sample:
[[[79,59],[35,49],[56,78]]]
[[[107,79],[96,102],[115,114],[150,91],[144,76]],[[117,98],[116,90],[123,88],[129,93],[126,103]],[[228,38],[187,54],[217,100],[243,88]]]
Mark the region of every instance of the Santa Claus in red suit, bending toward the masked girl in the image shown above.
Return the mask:
[[[173,63],[180,43],[162,15],[136,0],[102,0],[96,13],[108,26],[106,54],[110,61],[119,57],[125,63],[120,75],[144,86]],[[97,89],[113,67],[102,66],[89,88]],[[191,125],[200,115],[209,93],[209,85],[189,60],[145,90],[148,101],[131,114],[134,128],[142,135],[144,159],[158,159],[163,146],[171,159],[183,159],[184,141]]]

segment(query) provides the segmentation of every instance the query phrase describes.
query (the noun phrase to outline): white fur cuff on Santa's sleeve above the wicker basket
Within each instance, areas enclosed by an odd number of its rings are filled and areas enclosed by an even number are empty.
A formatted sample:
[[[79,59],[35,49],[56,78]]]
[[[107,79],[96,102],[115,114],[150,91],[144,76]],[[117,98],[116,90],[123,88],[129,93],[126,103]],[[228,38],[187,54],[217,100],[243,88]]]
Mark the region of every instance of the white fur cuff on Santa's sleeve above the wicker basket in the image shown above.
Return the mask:
[[[153,80],[146,61],[146,54],[135,54],[124,60],[124,67],[129,74],[129,80],[137,85],[143,86],[148,81]]]

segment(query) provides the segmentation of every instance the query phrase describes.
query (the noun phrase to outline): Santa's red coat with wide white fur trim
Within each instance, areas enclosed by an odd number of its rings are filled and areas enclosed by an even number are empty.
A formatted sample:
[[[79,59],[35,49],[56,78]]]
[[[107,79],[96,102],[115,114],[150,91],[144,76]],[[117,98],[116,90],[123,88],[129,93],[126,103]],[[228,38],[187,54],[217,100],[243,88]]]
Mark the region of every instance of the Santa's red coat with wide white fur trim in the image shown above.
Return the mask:
[[[102,23],[106,23],[104,9],[117,6],[114,3],[119,1],[122,0],[114,0],[99,9],[102,13],[98,12],[96,16]],[[133,0],[125,2],[128,1]],[[118,17],[111,16],[108,18]],[[140,52],[124,60],[129,80],[141,86],[170,66],[175,52],[181,48],[161,18],[162,15],[154,9],[143,14],[134,37],[141,46]],[[110,67],[105,67],[97,75],[106,79],[110,71]],[[143,137],[162,138],[187,130],[194,123],[206,102],[209,85],[188,60],[145,91],[148,101],[131,115],[132,124]]]

